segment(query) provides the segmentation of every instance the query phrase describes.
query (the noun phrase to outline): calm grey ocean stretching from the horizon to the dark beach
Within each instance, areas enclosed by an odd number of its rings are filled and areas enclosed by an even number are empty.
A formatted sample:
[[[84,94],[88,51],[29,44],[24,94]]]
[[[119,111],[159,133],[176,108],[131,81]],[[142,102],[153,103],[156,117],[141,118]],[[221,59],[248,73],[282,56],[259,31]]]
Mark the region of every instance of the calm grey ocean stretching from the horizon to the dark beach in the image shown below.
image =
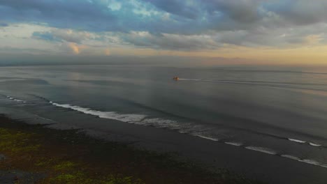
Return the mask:
[[[237,147],[327,174],[327,70],[1,67],[0,112],[103,137],[117,132],[136,140],[150,137],[142,129],[197,137],[210,146]],[[160,133],[151,136],[167,140]]]

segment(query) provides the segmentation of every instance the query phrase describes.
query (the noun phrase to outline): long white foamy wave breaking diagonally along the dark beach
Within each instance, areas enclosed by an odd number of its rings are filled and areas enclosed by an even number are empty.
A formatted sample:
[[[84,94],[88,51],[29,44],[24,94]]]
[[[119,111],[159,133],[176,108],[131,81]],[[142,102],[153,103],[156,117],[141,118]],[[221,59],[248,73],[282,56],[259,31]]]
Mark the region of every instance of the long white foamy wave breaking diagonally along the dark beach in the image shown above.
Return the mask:
[[[263,148],[263,147],[257,147],[257,146],[243,146],[240,142],[233,142],[233,141],[223,141],[223,139],[218,139],[217,137],[212,137],[210,135],[205,134],[205,130],[208,130],[208,128],[204,128],[203,125],[196,125],[195,123],[181,123],[178,121],[170,120],[170,119],[164,119],[164,118],[152,118],[150,116],[147,116],[145,114],[121,114],[118,112],[101,112],[94,109],[86,108],[86,107],[80,107],[75,105],[68,105],[68,104],[59,104],[56,102],[48,101],[50,104],[56,106],[56,107],[63,107],[66,109],[73,109],[78,112],[82,112],[84,114],[91,114],[93,116],[97,116],[99,118],[108,118],[108,119],[114,119],[117,121],[123,121],[126,123],[132,123],[136,125],[145,125],[145,126],[154,126],[156,128],[168,128],[170,130],[178,130],[180,133],[186,133],[192,136],[201,137],[203,139],[208,139],[211,141],[218,141],[224,144],[228,144],[231,146],[240,146],[241,148],[246,148],[248,150],[252,151],[259,151],[261,153],[266,153],[269,155],[276,155],[283,158],[289,158],[291,160],[297,160],[299,162],[305,162],[307,164],[314,164],[319,167],[326,167],[326,164],[321,164],[315,160],[310,159],[300,159],[296,156],[292,155],[279,155],[277,151],[273,151],[270,148]],[[311,146],[321,146],[319,144],[314,144],[312,142],[308,141],[302,141],[299,139],[291,139],[287,138],[289,141],[294,141],[300,144],[308,143]]]

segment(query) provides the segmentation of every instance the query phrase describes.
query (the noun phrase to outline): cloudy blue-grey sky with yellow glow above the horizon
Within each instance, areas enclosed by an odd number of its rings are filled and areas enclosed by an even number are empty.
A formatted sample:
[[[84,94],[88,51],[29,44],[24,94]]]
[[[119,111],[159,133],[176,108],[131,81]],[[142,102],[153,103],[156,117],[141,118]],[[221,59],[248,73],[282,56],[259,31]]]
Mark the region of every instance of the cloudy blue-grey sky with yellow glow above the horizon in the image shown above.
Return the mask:
[[[326,10],[325,0],[0,0],[0,61],[327,64]]]

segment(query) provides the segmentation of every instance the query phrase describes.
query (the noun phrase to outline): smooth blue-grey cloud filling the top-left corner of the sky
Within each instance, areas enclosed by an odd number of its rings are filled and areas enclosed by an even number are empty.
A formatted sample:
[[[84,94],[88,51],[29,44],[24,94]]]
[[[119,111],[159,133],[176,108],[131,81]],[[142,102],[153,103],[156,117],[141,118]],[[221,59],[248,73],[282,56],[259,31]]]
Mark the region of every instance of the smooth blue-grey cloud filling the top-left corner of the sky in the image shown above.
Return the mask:
[[[96,29],[115,20],[101,1],[85,0],[1,0],[0,16],[15,22],[45,22],[50,26]]]

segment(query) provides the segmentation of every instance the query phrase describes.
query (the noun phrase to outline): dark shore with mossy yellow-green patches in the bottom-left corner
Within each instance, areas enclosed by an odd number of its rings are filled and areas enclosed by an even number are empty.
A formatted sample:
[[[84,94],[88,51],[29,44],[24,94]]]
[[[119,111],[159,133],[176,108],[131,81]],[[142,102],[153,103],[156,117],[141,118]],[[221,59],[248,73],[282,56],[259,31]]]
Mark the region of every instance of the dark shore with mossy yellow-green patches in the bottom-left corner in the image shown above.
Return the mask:
[[[261,183],[173,154],[0,116],[0,181],[36,183]],[[11,177],[11,178],[10,178]]]

